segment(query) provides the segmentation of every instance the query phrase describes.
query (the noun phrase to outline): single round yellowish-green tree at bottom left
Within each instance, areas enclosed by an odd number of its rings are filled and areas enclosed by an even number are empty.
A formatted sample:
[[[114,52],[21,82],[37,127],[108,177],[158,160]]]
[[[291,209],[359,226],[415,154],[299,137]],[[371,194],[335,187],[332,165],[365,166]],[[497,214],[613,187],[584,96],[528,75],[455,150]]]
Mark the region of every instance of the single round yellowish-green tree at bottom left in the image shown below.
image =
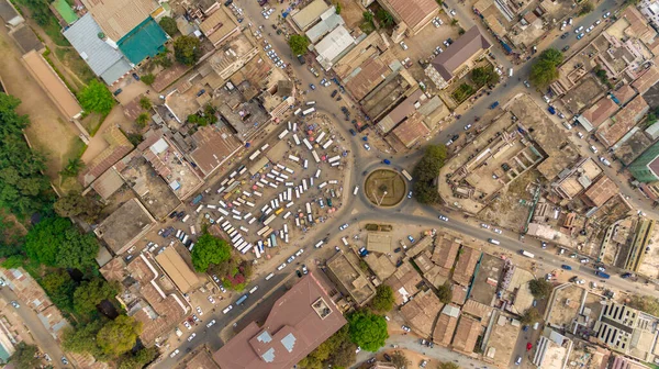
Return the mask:
[[[142,322],[132,316],[119,315],[110,321],[97,334],[97,344],[107,355],[119,356],[129,351],[142,333]]]

